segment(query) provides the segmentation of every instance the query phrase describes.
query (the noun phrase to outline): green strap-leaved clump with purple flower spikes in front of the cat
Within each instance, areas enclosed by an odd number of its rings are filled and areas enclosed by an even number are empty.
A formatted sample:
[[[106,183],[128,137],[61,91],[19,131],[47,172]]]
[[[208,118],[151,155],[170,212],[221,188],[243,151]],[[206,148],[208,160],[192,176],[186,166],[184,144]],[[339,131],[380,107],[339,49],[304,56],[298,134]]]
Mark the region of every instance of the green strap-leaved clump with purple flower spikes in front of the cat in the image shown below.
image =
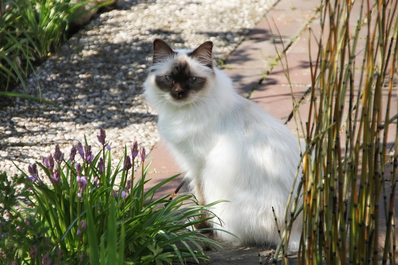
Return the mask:
[[[25,248],[21,260],[27,264],[43,259],[66,264],[107,264],[116,260],[183,264],[187,258],[197,262],[208,259],[203,246],[219,245],[194,226],[203,221],[220,222],[209,210],[218,202],[199,206],[189,193],[172,200],[170,195],[154,199],[159,187],[179,175],[145,191],[151,164],[144,166],[145,149],[134,142],[131,155],[126,147],[124,157],[112,168],[111,146],[105,141],[103,129],[97,138],[102,146],[97,154],[85,140],[71,148],[66,160],[57,145],[53,154],[31,164],[27,174],[21,170],[32,193],[27,199],[33,208],[25,208],[34,219],[29,224],[47,240],[47,244],[31,243],[34,255],[28,255],[31,249]],[[136,159],[141,162],[139,177],[132,170]],[[45,184],[39,171],[51,185]],[[118,176],[120,185],[115,183]],[[207,218],[201,219],[204,211]]]

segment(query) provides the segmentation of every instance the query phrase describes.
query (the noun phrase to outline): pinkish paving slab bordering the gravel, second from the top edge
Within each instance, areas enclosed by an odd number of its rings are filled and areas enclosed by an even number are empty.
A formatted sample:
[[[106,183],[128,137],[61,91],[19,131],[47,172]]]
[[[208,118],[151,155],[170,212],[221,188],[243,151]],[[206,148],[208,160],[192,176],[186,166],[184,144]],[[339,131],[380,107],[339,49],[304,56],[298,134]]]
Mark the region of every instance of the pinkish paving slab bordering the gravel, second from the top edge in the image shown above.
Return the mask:
[[[270,10],[248,35],[250,39],[289,38],[296,36],[312,18],[310,10]],[[280,34],[280,35],[279,35]]]

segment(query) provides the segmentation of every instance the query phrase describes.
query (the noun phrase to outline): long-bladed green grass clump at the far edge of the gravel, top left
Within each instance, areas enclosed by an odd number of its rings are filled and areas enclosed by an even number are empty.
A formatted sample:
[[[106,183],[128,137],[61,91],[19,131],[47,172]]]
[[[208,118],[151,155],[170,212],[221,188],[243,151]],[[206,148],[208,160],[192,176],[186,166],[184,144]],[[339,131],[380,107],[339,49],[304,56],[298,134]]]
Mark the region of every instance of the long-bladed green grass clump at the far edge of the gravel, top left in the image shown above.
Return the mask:
[[[25,78],[64,43],[70,23],[85,14],[87,3],[0,0],[0,96],[13,96],[8,92],[19,83],[27,93]]]

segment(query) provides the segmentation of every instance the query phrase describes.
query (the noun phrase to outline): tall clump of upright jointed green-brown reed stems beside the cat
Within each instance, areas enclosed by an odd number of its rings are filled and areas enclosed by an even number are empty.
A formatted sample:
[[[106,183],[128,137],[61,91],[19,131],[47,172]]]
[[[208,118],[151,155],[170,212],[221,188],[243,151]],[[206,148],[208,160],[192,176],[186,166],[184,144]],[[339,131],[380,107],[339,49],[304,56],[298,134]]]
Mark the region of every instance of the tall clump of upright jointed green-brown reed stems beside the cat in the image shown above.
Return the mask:
[[[354,2],[322,2],[322,36],[316,61],[310,56],[311,100],[304,125],[298,108],[301,102],[293,97],[294,121],[307,144],[302,150],[303,177],[297,179],[298,196],[289,198],[292,212],[286,212],[287,232],[275,260],[282,246],[287,249],[292,222],[301,214],[297,264],[377,264],[379,259],[396,264],[397,134],[390,140],[390,150],[387,145],[398,111],[391,109],[396,100],[392,91],[398,1],[377,0],[371,5],[362,0],[358,23],[350,29]],[[366,35],[363,53],[357,51],[361,29]],[[357,58],[359,54],[362,57]],[[286,73],[289,78],[288,69]],[[384,212],[379,211],[380,203]],[[383,218],[385,235],[380,233]],[[287,261],[284,255],[283,262]]]

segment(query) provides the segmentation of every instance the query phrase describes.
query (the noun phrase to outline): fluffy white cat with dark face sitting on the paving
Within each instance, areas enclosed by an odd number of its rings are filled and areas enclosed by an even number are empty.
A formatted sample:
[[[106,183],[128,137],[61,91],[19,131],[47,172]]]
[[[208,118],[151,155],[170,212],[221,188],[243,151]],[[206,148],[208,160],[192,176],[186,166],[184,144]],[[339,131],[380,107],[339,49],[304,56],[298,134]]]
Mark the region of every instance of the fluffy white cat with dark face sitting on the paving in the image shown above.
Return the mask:
[[[297,137],[236,92],[231,79],[213,65],[211,41],[195,50],[173,51],[155,39],[153,47],[144,95],[158,110],[159,132],[193,194],[203,205],[230,201],[212,210],[224,222],[217,228],[243,244],[279,244],[271,207],[283,229],[300,161]],[[298,249],[300,235],[296,220],[290,250]],[[217,236],[236,241],[225,232]]]

